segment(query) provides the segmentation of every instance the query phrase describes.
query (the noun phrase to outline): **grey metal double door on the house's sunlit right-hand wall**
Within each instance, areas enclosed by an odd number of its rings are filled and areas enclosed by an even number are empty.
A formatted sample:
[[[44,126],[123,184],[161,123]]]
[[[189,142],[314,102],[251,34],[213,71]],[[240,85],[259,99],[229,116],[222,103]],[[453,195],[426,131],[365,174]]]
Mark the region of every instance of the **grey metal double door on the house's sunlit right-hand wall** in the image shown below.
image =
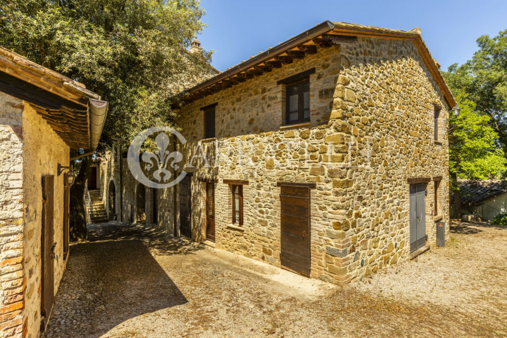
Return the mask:
[[[410,252],[426,245],[425,183],[410,185]]]

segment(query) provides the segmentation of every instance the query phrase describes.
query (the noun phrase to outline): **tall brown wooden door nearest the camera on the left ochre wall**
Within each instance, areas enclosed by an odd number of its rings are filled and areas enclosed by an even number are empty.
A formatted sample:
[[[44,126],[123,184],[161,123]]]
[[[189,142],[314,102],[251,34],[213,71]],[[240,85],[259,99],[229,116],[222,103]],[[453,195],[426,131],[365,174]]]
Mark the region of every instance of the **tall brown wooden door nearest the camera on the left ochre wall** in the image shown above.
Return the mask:
[[[42,234],[41,234],[41,328],[48,324],[54,298],[54,247],[53,243],[53,209],[54,209],[54,176],[42,178]]]

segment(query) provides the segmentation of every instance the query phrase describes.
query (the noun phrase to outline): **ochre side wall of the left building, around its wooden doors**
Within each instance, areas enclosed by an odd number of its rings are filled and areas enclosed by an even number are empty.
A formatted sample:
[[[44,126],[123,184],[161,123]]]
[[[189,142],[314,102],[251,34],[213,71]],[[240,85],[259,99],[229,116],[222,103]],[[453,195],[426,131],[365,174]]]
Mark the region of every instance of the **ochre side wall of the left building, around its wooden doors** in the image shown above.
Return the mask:
[[[26,280],[24,320],[27,336],[37,337],[41,326],[41,230],[42,181],[54,175],[54,292],[65,269],[63,255],[64,175],[57,176],[58,163],[69,165],[69,147],[30,106],[23,112],[23,210],[24,272]]]

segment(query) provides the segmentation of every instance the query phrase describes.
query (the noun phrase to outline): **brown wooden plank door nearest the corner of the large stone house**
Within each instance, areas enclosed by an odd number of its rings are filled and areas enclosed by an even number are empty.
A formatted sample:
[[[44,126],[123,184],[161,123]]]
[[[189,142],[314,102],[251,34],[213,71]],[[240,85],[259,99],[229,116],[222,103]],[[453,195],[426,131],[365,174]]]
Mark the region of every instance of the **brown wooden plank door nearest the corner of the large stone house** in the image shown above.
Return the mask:
[[[280,263],[310,276],[310,189],[280,187]]]

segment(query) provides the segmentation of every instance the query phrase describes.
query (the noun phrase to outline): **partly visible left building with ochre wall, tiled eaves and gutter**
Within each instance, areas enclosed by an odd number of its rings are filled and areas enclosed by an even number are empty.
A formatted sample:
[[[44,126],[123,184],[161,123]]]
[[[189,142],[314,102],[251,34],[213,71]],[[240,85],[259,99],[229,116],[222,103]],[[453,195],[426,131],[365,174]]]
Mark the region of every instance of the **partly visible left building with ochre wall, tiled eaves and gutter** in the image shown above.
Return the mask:
[[[0,337],[48,322],[68,255],[70,149],[95,149],[106,104],[0,48]]]

